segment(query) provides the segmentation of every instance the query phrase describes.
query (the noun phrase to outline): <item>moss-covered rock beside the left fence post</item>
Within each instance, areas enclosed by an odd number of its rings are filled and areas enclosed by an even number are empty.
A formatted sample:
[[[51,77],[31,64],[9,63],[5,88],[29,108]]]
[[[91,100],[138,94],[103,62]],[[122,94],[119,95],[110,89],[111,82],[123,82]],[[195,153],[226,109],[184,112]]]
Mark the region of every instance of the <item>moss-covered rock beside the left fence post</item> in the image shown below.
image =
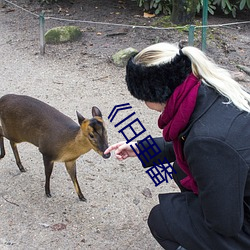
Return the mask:
[[[76,26],[55,27],[45,34],[45,42],[50,44],[77,41],[82,36],[82,31]]]

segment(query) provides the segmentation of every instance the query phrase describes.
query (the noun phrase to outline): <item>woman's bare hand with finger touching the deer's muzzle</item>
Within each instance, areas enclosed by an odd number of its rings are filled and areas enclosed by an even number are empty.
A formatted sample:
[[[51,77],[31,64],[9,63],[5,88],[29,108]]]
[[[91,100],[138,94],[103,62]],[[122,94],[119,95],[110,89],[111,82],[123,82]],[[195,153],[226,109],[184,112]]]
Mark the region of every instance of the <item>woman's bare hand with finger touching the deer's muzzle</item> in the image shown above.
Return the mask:
[[[118,142],[116,144],[111,145],[109,148],[107,148],[104,152],[104,154],[108,154],[111,151],[115,150],[115,157],[122,161],[125,160],[128,157],[135,157],[137,156],[133,149],[130,147],[131,145],[133,148],[139,153],[138,148],[135,146],[136,142],[130,142],[126,143],[125,141]]]

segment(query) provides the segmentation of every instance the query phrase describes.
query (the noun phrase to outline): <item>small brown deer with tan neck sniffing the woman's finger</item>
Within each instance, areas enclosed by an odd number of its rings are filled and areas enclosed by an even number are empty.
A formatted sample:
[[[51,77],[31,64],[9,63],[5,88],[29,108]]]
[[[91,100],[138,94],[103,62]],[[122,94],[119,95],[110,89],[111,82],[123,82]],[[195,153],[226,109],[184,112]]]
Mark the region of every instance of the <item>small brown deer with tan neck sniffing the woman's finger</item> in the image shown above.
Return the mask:
[[[101,111],[92,107],[93,118],[86,119],[77,112],[80,126],[60,111],[29,96],[9,94],[0,98],[0,158],[5,156],[3,137],[9,139],[16,164],[20,161],[17,143],[29,142],[39,148],[45,167],[45,193],[50,194],[50,176],[54,162],[64,162],[81,201],[83,196],[76,176],[76,160],[94,149],[103,158],[108,148],[107,132]]]

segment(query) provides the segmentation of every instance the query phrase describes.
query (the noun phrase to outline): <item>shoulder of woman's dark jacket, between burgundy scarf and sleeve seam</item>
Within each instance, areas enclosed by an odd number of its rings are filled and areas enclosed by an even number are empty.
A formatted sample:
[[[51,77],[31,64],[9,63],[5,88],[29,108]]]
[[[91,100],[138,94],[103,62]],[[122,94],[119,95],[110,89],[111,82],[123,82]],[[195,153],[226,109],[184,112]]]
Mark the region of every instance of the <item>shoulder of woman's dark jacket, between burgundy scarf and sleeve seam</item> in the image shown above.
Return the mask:
[[[250,113],[239,110],[215,90],[204,86],[189,127],[187,139],[214,138],[234,147],[250,148]]]

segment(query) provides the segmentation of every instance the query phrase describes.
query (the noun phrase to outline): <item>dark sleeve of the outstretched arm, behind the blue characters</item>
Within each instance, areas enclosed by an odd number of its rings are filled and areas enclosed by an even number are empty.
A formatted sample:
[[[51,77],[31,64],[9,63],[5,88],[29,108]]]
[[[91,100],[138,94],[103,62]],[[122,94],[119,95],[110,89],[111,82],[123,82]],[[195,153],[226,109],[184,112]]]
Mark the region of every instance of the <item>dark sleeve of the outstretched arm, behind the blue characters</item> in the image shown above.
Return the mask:
[[[148,162],[145,161],[144,162],[145,166],[143,166],[143,167],[144,168],[151,167],[154,165],[154,162],[158,163],[158,160],[160,160],[163,164],[167,163],[164,160],[164,157],[166,157],[169,162],[174,162],[175,161],[175,153],[174,153],[172,142],[166,142],[163,137],[156,137],[156,138],[153,138],[153,140],[157,144],[157,146],[160,148],[161,152],[159,154],[157,154],[155,157],[153,157],[152,159],[148,159]],[[138,147],[140,149],[143,149],[142,145],[145,148],[147,148],[148,145],[150,144],[150,140],[143,141],[143,142],[138,141],[137,143],[138,143]],[[152,150],[152,149],[149,149],[149,153],[150,153],[150,150]],[[150,153],[150,154],[153,155],[153,153]]]

